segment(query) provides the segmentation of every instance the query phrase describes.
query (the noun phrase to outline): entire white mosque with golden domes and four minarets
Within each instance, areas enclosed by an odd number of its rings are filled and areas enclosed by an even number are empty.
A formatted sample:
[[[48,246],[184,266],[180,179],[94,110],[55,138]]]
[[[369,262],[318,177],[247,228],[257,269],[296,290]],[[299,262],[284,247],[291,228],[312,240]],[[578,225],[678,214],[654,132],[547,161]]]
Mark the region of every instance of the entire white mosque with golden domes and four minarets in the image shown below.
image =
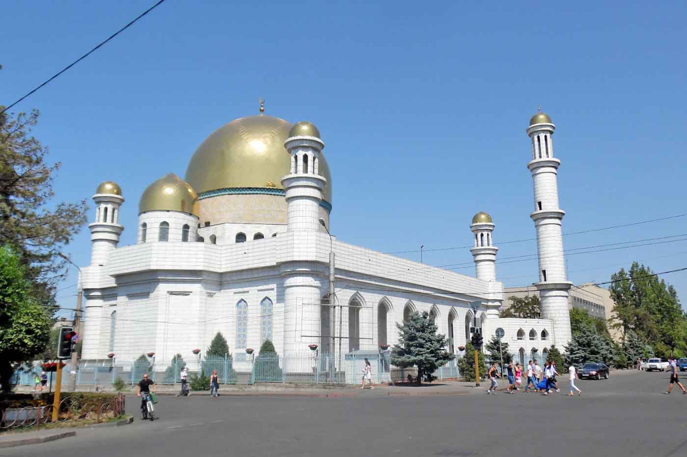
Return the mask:
[[[291,124],[261,108],[207,137],[183,179],[169,173],[144,191],[133,246],[117,246],[122,188],[97,187],[91,264],[81,269],[82,359],[190,358],[218,331],[236,361],[267,339],[282,354],[313,344],[324,353],[369,353],[394,344],[396,323],[423,311],[451,353],[462,355],[476,322],[485,340],[502,334],[521,361],[545,358],[571,339],[554,130],[541,111],[527,128],[541,319],[499,318],[504,285],[488,213],[474,216],[471,234],[466,227],[475,277],[330,236],[334,183],[324,139],[310,122]]]

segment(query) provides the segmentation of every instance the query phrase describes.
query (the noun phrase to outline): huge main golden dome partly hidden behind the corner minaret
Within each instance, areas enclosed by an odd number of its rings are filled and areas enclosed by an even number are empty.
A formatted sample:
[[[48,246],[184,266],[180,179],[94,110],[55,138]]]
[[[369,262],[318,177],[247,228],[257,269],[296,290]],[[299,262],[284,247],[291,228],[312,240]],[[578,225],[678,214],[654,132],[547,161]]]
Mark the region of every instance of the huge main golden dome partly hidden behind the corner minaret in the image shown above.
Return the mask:
[[[291,158],[284,141],[293,127],[278,117],[242,117],[215,130],[193,154],[186,182],[198,194],[217,189],[278,188],[289,174]],[[332,176],[324,154],[319,169],[327,179],[324,200],[332,202]]]

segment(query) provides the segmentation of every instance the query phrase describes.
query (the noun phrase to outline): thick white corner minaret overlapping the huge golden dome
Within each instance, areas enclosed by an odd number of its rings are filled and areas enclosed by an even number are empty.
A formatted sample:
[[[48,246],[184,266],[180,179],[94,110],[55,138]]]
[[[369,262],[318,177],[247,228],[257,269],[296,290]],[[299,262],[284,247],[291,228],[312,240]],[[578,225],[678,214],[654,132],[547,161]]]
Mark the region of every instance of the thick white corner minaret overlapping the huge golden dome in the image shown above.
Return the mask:
[[[327,180],[320,174],[319,154],[324,142],[310,122],[298,122],[284,141],[291,155],[290,173],[282,178],[286,190],[286,233],[289,261],[282,263],[284,278],[284,351],[304,351],[308,344],[323,346],[320,300],[326,273],[317,270],[319,203]],[[280,235],[281,237],[282,235]],[[327,244],[327,248],[329,245]],[[306,263],[307,262],[307,263]],[[324,281],[323,281],[324,279]],[[295,338],[294,338],[295,337]],[[297,367],[287,366],[286,371]]]

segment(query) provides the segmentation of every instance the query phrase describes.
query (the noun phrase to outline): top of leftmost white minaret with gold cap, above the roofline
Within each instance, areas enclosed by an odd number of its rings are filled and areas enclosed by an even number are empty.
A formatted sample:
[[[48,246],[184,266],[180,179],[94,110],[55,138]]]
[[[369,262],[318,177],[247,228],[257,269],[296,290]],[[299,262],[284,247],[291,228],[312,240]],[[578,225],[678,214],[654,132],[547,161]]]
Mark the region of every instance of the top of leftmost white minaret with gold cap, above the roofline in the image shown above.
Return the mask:
[[[95,202],[95,222],[89,224],[91,230],[91,266],[104,266],[110,252],[120,242],[124,226],[119,224],[120,207],[124,202],[122,188],[113,181],[105,181],[98,186],[93,196]]]

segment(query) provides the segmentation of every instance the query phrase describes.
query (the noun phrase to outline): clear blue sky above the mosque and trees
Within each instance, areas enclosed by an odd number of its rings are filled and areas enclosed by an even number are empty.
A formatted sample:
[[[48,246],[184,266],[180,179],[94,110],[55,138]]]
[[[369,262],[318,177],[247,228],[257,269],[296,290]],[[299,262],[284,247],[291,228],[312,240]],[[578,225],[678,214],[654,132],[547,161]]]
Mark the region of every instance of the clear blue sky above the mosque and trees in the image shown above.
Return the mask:
[[[5,3],[0,103],[153,3]],[[383,252],[424,244],[426,263],[466,263],[455,271],[473,275],[460,246],[471,244],[477,211],[493,215],[499,257],[536,253],[532,240],[504,242],[534,237],[525,130],[537,106],[557,126],[564,233],[687,213],[687,7],[601,3],[168,0],[14,110],[41,110],[34,134],[63,164],[57,200],[92,207],[102,180],[122,185],[122,246],[135,242],[142,191],[168,172],[183,176],[203,139],[257,114],[262,96],[267,114],[322,132],[339,239]],[[568,235],[564,245],[682,235],[686,221]],[[570,279],[608,281],[633,260],[657,272],[687,266],[687,242],[675,239],[685,237],[569,255]],[[89,263],[86,227],[65,250]],[[501,263],[497,274],[531,284],[537,262]],[[665,279],[684,301],[687,274]],[[74,303],[75,283],[75,274],[63,283],[61,305]]]

